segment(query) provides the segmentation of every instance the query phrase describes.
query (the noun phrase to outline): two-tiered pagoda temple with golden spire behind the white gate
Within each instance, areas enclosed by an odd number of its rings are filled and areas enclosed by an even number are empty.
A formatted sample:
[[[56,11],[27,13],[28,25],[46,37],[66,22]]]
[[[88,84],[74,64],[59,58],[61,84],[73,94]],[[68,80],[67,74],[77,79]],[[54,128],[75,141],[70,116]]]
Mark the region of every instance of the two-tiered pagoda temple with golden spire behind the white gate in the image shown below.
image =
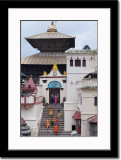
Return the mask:
[[[60,33],[51,22],[50,28],[45,33],[25,38],[39,53],[21,59],[21,71],[26,75],[37,78],[51,71],[56,61],[60,72],[66,70],[66,53],[69,48],[75,47],[75,37]],[[38,81],[38,79],[37,79]]]

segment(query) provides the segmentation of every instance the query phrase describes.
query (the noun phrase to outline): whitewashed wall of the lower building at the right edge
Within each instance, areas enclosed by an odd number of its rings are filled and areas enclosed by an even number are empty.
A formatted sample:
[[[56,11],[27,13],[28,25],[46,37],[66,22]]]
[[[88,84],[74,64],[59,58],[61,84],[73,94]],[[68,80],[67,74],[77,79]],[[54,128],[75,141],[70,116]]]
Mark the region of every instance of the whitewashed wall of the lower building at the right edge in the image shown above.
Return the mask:
[[[83,88],[85,86],[91,86],[91,88]],[[90,123],[88,118],[98,114],[98,106],[94,106],[94,97],[98,97],[97,79],[84,79],[82,85],[78,89],[79,98],[82,98],[82,105],[79,103],[78,106],[81,110],[81,136],[90,136]]]

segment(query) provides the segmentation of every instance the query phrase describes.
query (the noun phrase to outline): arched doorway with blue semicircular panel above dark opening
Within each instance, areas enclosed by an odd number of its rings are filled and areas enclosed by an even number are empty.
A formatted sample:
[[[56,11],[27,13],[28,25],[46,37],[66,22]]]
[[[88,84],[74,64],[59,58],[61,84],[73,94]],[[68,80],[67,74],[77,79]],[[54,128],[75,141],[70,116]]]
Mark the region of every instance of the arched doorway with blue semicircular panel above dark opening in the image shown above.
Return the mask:
[[[58,81],[51,81],[48,84],[49,88],[49,104],[54,103],[53,98],[55,95],[58,97],[57,103],[60,104],[60,88],[62,88],[61,84]]]

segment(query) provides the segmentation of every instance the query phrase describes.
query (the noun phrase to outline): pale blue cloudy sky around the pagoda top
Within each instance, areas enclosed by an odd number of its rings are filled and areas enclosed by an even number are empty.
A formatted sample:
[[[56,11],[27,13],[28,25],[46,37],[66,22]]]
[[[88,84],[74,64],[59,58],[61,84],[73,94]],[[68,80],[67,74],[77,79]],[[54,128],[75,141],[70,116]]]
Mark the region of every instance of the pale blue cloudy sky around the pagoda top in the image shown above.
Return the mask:
[[[54,21],[54,24],[58,32],[76,37],[72,49],[83,49],[85,45],[97,49],[97,21]],[[40,52],[25,37],[44,33],[50,25],[51,21],[21,21],[21,58]]]

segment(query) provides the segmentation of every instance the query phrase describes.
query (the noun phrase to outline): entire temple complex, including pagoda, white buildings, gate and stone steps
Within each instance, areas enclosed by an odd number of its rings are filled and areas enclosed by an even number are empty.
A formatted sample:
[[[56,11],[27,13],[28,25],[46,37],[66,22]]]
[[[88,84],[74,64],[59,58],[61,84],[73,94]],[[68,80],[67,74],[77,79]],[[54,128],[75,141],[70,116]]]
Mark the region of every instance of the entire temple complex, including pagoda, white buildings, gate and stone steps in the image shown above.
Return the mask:
[[[60,136],[97,136],[97,50],[75,47],[75,38],[59,33],[51,22],[47,32],[26,37],[39,53],[21,59],[22,75],[30,76],[21,87],[21,116],[33,136],[51,136],[46,127],[49,108],[61,110]],[[52,97],[57,96],[57,104]]]

